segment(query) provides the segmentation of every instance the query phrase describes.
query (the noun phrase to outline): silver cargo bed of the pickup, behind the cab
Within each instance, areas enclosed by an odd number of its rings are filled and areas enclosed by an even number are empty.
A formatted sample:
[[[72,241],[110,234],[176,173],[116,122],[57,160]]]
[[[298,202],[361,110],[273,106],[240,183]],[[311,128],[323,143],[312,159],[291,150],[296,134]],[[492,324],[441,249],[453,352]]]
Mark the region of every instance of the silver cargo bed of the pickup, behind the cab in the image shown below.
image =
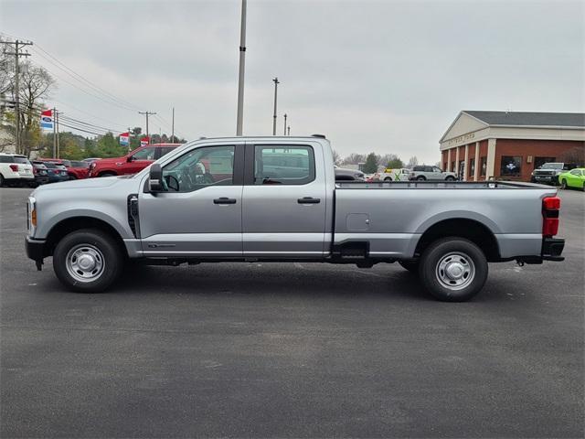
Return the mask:
[[[487,228],[502,259],[540,254],[542,198],[556,194],[555,187],[500,181],[337,182],[334,244],[366,242],[372,257],[412,258],[426,230],[458,221],[455,230]]]

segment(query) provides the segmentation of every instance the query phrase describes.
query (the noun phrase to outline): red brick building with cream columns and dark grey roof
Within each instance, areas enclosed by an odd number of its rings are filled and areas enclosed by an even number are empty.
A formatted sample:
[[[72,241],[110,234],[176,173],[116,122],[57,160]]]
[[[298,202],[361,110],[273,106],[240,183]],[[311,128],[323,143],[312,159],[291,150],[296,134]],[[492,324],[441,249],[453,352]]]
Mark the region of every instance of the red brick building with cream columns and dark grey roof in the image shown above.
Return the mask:
[[[439,143],[443,170],[463,180],[528,181],[543,163],[568,155],[583,160],[585,113],[463,111]]]

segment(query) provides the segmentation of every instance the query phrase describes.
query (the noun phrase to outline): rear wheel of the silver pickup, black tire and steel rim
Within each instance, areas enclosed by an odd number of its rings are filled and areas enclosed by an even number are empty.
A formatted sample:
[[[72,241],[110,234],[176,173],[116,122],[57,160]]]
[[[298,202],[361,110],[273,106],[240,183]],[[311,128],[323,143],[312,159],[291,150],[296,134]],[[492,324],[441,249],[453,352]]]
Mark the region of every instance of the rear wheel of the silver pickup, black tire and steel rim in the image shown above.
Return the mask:
[[[443,302],[471,299],[484,287],[487,272],[484,252],[472,241],[459,237],[431,243],[420,258],[421,283],[433,297]]]

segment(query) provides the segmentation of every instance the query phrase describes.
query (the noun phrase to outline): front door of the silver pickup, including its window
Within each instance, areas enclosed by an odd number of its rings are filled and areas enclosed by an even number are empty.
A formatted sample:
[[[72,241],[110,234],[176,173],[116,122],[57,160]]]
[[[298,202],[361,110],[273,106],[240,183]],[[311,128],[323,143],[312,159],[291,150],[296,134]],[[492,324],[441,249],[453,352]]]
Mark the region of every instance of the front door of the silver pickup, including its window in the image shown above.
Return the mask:
[[[209,145],[163,165],[165,192],[138,207],[144,256],[241,257],[244,145]]]

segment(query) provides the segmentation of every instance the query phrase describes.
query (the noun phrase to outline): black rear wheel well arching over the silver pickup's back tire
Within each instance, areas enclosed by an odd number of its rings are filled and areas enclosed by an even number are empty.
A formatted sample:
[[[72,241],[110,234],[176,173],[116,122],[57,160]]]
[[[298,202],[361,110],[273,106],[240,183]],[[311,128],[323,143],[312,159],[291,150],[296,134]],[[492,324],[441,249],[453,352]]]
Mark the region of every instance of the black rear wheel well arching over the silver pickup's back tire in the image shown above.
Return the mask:
[[[434,241],[448,236],[465,238],[475,243],[485,254],[489,262],[500,259],[500,249],[494,233],[479,221],[473,219],[444,219],[433,224],[420,237],[415,250],[417,257]]]

